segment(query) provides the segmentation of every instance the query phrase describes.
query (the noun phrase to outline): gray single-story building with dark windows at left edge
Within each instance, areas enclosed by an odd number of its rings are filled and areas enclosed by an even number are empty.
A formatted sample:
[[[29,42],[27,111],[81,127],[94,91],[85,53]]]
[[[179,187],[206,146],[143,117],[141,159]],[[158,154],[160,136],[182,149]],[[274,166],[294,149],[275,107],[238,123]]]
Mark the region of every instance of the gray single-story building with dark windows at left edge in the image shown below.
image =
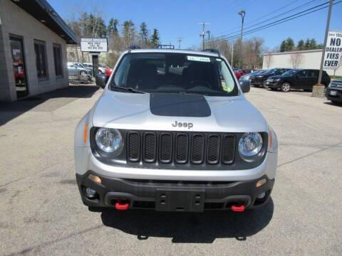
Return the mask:
[[[46,0],[0,0],[0,101],[68,86],[76,35]]]

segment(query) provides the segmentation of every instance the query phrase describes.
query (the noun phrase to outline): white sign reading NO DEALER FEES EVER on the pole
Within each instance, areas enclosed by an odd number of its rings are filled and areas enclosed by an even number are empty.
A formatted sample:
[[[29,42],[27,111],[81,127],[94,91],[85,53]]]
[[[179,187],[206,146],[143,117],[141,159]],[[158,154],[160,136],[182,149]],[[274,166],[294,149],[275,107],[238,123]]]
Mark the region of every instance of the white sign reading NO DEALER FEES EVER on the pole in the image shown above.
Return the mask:
[[[342,31],[329,31],[324,55],[324,69],[338,69],[342,57]]]

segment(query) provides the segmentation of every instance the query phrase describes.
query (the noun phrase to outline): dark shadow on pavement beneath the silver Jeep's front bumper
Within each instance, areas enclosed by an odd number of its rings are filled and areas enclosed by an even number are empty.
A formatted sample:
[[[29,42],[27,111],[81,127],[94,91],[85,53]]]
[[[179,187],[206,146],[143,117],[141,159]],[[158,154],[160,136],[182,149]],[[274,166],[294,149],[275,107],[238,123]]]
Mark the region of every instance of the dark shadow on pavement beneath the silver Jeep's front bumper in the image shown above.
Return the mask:
[[[204,213],[163,213],[151,210],[103,210],[103,224],[139,240],[172,238],[172,242],[212,243],[216,238],[247,237],[259,233],[271,221],[274,204],[270,198],[261,208],[244,213],[207,211]]]

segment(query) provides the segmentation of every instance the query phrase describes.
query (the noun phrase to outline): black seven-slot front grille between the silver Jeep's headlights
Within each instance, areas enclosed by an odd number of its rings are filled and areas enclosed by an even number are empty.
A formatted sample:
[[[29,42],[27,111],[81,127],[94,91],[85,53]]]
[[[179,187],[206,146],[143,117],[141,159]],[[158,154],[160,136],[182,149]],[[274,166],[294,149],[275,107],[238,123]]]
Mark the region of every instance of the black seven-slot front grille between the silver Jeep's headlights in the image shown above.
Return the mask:
[[[155,164],[234,163],[234,134],[197,132],[127,133],[128,162]],[[141,146],[140,146],[141,145]]]

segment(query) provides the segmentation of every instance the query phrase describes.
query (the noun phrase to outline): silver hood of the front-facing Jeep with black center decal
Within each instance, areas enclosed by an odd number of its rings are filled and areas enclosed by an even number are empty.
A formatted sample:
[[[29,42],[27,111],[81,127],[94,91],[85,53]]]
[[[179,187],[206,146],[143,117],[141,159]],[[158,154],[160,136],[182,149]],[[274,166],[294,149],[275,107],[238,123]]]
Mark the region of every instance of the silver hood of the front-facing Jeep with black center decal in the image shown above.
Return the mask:
[[[209,97],[105,91],[94,106],[93,126],[191,132],[266,132],[260,112],[243,96]],[[159,105],[152,103],[157,97]],[[171,102],[171,106],[168,101]],[[165,105],[160,105],[165,102]],[[152,108],[152,110],[151,110]],[[162,110],[159,110],[162,108]],[[193,113],[193,114],[191,114]],[[192,123],[192,127],[172,124]]]

